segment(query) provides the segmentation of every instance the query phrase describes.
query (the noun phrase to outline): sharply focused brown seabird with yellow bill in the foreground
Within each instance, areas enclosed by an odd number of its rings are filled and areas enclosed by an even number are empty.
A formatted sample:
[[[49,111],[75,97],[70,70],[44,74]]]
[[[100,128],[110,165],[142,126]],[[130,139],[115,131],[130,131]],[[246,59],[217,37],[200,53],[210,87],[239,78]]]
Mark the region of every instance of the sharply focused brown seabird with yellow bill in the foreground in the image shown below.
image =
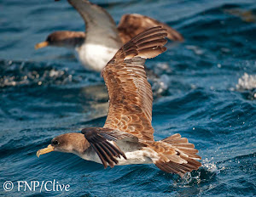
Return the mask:
[[[143,31],[127,42],[102,70],[108,87],[109,110],[104,127],[84,128],[51,140],[37,155],[60,151],[113,167],[154,163],[181,177],[198,169],[201,157],[194,144],[180,134],[154,141],[152,90],[144,70],[146,59],[166,51],[166,29]]]

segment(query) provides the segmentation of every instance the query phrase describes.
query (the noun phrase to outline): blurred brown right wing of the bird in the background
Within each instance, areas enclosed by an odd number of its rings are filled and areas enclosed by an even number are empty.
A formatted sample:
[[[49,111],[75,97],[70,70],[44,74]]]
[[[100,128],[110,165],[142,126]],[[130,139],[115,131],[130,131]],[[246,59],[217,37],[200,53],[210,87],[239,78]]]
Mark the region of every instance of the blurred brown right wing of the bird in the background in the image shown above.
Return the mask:
[[[126,43],[130,41],[132,37],[154,26],[165,28],[167,37],[170,40],[183,41],[183,36],[169,25],[141,14],[125,14],[122,16],[118,25],[119,37],[123,43]]]

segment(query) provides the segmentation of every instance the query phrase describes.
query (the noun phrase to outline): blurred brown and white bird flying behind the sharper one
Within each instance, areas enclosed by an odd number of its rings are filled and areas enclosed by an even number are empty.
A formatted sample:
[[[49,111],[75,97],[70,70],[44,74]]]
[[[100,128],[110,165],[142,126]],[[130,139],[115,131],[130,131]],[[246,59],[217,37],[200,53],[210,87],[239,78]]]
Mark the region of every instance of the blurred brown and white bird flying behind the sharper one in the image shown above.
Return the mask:
[[[76,8],[84,20],[83,31],[55,31],[35,48],[47,46],[73,48],[79,61],[89,70],[102,71],[108,61],[123,44],[138,33],[154,26],[167,30],[167,37],[173,41],[183,41],[183,37],[172,27],[141,14],[125,14],[116,26],[113,18],[104,8],[88,0],[67,0]]]

